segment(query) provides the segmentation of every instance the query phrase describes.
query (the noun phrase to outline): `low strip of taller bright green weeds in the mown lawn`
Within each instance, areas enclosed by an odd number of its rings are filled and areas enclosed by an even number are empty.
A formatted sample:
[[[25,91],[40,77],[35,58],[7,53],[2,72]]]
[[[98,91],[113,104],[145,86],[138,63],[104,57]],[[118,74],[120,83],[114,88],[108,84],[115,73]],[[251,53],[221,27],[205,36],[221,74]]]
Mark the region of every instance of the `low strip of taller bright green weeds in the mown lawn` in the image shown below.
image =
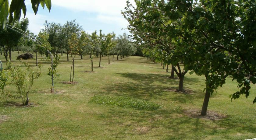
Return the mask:
[[[157,103],[129,97],[93,96],[89,102],[105,106],[135,108],[138,110],[157,110],[160,108],[160,105]]]

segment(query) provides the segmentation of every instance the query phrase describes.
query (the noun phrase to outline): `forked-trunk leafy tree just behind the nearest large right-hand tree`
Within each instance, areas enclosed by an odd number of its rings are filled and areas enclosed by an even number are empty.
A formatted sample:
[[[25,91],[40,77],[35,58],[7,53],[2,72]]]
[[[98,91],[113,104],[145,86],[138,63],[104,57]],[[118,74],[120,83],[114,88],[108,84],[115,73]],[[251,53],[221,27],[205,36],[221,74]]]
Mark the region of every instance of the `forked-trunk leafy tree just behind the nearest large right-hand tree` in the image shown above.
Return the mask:
[[[135,8],[127,1],[126,11],[122,11],[123,16],[130,23],[127,28],[133,34],[133,39],[137,40],[137,44],[140,44],[141,47],[151,50],[148,51],[148,56],[154,62],[158,60],[164,61],[167,65],[172,64],[171,77],[174,77],[174,72],[178,75],[180,79],[178,91],[184,91],[183,80],[188,70],[182,70],[180,67],[179,61],[182,61],[182,57],[173,56],[176,45],[179,45],[176,44],[176,38],[179,39],[180,35],[176,26],[180,23],[180,15],[165,16],[165,11],[161,9],[161,5],[165,5],[164,1],[137,1],[136,4]],[[166,24],[172,26],[167,27]],[[157,55],[158,52],[155,51],[158,49],[165,53],[165,57]]]

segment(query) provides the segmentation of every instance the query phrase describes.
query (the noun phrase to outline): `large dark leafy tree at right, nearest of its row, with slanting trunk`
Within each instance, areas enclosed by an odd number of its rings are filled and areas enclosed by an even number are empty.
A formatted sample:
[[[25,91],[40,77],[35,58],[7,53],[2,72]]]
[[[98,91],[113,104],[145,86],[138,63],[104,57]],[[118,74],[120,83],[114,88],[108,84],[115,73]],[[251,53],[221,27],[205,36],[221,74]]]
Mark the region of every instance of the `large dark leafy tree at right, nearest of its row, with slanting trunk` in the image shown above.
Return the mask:
[[[148,14],[142,14],[148,18],[147,21],[168,29],[166,34],[176,45],[173,60],[182,59],[185,70],[206,78],[201,115],[207,113],[210,95],[225,84],[228,75],[238,82],[239,91],[231,96],[232,99],[242,94],[249,96],[250,84],[256,82],[256,28],[253,24],[256,10],[252,6],[255,1],[208,0],[193,3],[170,0],[154,6],[161,12],[151,8],[152,5],[151,1],[137,1],[137,7],[148,10]],[[140,25],[141,21],[134,19],[133,23]]]

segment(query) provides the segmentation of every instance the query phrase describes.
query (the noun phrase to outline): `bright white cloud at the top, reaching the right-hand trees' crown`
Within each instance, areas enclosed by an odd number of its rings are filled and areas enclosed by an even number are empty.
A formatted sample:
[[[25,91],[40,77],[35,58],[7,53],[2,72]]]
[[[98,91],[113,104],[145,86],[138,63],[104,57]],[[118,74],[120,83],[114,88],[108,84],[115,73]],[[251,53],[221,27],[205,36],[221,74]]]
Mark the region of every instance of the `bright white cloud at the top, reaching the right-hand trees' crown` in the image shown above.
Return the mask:
[[[131,4],[135,5],[134,0],[130,0]],[[126,28],[128,22],[121,14],[121,10],[126,7],[126,0],[54,0],[52,7],[60,6],[71,9],[73,11],[84,11],[96,13],[96,17],[89,19],[96,19],[101,23],[116,24],[121,28]]]

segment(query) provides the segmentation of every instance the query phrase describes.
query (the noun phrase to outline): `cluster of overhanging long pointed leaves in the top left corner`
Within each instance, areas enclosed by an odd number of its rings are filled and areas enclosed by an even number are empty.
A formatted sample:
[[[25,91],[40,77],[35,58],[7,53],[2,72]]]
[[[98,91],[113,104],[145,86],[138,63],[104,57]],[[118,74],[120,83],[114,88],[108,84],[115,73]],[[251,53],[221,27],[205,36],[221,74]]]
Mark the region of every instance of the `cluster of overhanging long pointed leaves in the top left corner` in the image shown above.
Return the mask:
[[[37,14],[39,5],[44,8],[46,5],[47,9],[51,10],[52,2],[51,0],[31,0],[32,9]],[[10,6],[9,6],[10,5]],[[23,15],[26,16],[27,8],[25,5],[25,0],[12,0],[11,4],[9,4],[9,0],[1,0],[0,1],[0,24],[2,29],[5,29],[5,24],[9,16],[9,24],[15,26],[16,22],[20,20],[21,10]],[[25,17],[24,17],[25,18]]]

